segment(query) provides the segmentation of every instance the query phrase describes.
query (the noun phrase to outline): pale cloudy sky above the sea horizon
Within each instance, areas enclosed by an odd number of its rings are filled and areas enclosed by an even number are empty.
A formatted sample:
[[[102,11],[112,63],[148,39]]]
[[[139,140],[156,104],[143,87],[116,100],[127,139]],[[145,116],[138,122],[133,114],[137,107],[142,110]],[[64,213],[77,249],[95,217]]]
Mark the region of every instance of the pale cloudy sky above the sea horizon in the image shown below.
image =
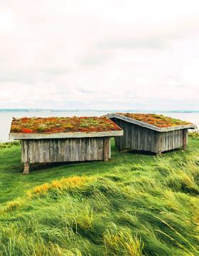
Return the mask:
[[[198,0],[0,0],[0,108],[198,101]]]

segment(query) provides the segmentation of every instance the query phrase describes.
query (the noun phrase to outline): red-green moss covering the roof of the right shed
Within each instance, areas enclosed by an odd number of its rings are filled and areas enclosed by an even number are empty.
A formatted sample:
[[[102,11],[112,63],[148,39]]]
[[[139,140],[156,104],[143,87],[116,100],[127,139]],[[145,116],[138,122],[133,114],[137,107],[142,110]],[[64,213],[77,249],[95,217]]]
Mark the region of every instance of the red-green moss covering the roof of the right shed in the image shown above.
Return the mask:
[[[183,126],[192,123],[181,121],[179,119],[170,118],[168,116],[156,115],[156,114],[141,114],[141,113],[119,113],[122,116],[133,118],[137,121],[149,123],[159,128],[167,128],[171,126]]]

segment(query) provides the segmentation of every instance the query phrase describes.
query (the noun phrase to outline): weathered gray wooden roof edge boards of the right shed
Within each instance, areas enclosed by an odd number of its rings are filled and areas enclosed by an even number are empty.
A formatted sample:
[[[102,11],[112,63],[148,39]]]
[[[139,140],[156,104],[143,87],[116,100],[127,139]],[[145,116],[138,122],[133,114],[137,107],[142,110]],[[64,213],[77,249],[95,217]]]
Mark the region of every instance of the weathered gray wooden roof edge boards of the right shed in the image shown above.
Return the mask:
[[[185,129],[185,128],[188,128],[188,129],[195,129],[197,128],[197,126],[195,126],[195,124],[188,124],[188,125],[183,125],[183,126],[171,126],[171,127],[168,127],[168,128],[159,128],[157,126],[153,126],[149,123],[144,123],[144,122],[141,122],[141,121],[138,121],[136,119],[133,119],[133,118],[128,118],[127,116],[122,116],[118,113],[108,113],[107,115],[107,118],[118,118],[120,120],[123,120],[123,121],[126,121],[126,122],[129,122],[129,123],[134,123],[135,125],[137,126],[141,126],[141,127],[144,127],[144,128],[149,128],[151,130],[156,130],[158,132],[167,132],[167,131],[170,131],[170,130],[181,130],[181,129]]]

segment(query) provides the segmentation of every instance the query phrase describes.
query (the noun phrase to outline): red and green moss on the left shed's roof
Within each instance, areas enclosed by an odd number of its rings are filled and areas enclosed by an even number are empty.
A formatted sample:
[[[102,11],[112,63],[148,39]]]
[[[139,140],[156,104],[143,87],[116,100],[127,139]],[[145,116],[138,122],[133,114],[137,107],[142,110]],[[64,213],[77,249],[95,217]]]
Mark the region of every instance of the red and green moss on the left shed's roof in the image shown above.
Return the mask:
[[[112,130],[122,129],[105,116],[13,118],[11,123],[11,133],[89,133]]]

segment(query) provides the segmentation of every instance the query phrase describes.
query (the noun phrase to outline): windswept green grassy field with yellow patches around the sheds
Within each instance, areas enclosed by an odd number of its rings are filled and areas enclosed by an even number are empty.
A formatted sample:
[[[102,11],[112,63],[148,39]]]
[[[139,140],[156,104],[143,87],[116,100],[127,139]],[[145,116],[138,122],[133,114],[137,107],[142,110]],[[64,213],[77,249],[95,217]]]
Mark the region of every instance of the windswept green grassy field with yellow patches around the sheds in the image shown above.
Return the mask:
[[[34,165],[0,145],[0,255],[199,255],[199,138],[161,156]]]

